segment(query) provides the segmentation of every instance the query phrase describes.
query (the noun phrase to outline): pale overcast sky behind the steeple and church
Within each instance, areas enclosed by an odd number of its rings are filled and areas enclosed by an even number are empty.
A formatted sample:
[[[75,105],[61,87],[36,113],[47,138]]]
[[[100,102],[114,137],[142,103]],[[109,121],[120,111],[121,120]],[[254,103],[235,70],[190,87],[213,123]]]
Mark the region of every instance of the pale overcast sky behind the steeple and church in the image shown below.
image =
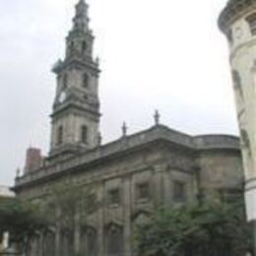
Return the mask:
[[[78,0],[0,0],[0,184],[29,146],[48,152],[55,77]],[[104,142],[160,121],[192,135],[236,134],[228,50],[217,19],[226,0],[91,0],[100,59]]]

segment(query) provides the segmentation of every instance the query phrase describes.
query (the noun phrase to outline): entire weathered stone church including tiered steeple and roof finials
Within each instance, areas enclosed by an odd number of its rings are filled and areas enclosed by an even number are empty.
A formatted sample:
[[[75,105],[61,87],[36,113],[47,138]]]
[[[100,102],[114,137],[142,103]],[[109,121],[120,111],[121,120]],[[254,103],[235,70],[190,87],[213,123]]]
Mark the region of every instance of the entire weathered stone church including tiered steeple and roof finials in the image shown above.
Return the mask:
[[[194,202],[202,195],[231,195],[243,188],[239,140],[228,135],[193,137],[160,125],[156,114],[150,129],[127,136],[124,126],[121,138],[101,145],[98,68],[92,57],[87,10],[81,0],[67,38],[66,58],[54,67],[59,79],[50,154],[38,169],[17,177],[15,191],[37,202],[60,183],[80,188],[93,184],[100,208],[89,217],[86,230],[78,230],[75,246],[90,256],[131,256],[135,255],[134,226],[147,221],[157,206]],[[84,40],[89,47],[85,55],[81,52]],[[85,72],[92,80],[81,76]],[[84,82],[90,85],[86,97],[86,89],[81,89]],[[87,140],[81,134],[84,126]],[[38,244],[34,255],[68,256],[67,241],[61,242],[61,235],[55,230]]]

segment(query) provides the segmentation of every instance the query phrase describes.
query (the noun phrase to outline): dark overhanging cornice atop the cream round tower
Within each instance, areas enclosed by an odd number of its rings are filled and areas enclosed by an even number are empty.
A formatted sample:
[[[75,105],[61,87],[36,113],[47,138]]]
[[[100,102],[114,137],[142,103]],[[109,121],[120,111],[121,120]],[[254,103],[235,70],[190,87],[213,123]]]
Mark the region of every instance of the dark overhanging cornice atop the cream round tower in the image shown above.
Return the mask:
[[[256,6],[256,0],[229,0],[219,17],[219,27],[223,32],[227,32],[229,26],[239,17],[252,10]]]

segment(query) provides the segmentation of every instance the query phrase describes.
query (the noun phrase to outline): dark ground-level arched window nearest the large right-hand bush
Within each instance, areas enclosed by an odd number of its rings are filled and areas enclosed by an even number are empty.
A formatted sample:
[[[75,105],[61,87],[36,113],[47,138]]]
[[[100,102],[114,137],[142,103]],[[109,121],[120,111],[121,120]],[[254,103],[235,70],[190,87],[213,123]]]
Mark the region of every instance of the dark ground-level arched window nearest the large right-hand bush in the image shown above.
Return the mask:
[[[106,250],[107,255],[123,255],[123,228],[111,224],[106,228]]]

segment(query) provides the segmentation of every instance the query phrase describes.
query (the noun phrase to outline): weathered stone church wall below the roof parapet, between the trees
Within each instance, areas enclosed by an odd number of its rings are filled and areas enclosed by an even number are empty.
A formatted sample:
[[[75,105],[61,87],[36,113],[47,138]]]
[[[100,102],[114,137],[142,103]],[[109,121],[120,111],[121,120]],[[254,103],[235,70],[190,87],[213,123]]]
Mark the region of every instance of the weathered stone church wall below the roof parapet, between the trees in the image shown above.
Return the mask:
[[[89,218],[89,224],[96,230],[97,255],[109,255],[107,248],[111,244],[111,232],[121,234],[123,255],[132,255],[133,227],[147,220],[157,206],[195,201],[199,186],[237,188],[242,179],[241,173],[239,150],[198,152],[156,141],[136,150],[120,151],[111,158],[101,158],[92,164],[78,165],[41,184],[21,189],[19,195],[43,200],[43,196],[60,182],[82,187],[95,184],[96,197],[102,202],[102,207]],[[178,202],[174,195],[176,182],[184,185],[185,194],[185,199]],[[145,184],[149,188],[148,197],[140,198],[139,187]],[[115,190],[119,191],[119,199],[118,203],[112,204],[109,193]]]

